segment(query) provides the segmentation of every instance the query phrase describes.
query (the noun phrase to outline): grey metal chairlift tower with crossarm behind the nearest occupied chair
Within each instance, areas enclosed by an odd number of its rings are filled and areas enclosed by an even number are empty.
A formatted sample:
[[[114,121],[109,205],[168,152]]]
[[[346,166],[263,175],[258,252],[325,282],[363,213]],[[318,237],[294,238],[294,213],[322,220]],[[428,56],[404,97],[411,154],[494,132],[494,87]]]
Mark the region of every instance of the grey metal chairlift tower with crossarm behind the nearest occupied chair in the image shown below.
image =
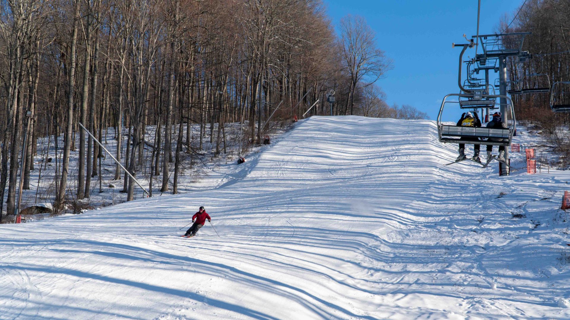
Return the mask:
[[[523,51],[524,38],[530,35],[531,32],[511,32],[508,34],[487,34],[487,35],[474,35],[471,36],[471,43],[475,40],[478,44],[481,44],[482,54],[477,54],[475,60],[479,62],[479,65],[486,65],[488,59],[498,59],[499,60],[499,96],[507,95],[507,57],[518,57],[519,63],[525,62],[527,59],[531,58],[528,51]],[[507,43],[516,44],[517,46],[507,48]],[[463,48],[461,55],[465,52],[466,48]],[[459,58],[461,61],[461,57]],[[459,71],[461,76],[461,67]],[[459,85],[461,90],[465,92],[465,89]],[[500,112],[503,116],[503,124],[507,124],[508,121],[508,110],[507,110],[507,100],[504,97],[500,98]],[[512,116],[512,115],[511,115]],[[504,150],[504,158],[508,163],[508,149]],[[509,170],[504,167],[502,168],[500,175],[508,175]]]

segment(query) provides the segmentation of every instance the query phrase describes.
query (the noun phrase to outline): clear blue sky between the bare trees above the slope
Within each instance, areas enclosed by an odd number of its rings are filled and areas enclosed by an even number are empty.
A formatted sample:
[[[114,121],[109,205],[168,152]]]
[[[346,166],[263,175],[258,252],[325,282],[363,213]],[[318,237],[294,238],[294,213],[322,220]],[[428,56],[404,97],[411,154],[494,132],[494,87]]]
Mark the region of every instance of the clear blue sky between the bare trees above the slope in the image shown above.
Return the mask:
[[[409,104],[435,120],[443,96],[458,93],[460,48],[477,33],[477,0],[323,0],[335,27],[347,14],[363,16],[376,31],[378,48],[393,59],[394,68],[378,80],[388,104]],[[479,34],[495,33],[499,20],[512,19],[521,0],[482,0]],[[479,49],[480,51],[480,49]],[[473,57],[475,49],[466,51]],[[464,58],[466,58],[464,56]],[[491,72],[491,79],[494,73]],[[447,110],[446,105],[446,110]],[[453,112],[444,120],[453,120]]]

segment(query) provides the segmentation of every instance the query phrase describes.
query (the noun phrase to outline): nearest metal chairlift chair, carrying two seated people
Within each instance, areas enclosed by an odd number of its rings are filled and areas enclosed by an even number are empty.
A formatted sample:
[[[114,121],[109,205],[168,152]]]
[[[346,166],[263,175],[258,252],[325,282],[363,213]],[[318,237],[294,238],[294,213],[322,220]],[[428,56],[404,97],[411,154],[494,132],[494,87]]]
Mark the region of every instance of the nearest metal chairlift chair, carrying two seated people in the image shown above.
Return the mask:
[[[570,83],[570,82],[569,82]],[[459,101],[447,101],[449,97],[456,96]],[[516,130],[516,119],[515,112],[512,105],[512,100],[507,96],[499,95],[482,95],[481,99],[486,101],[496,100],[497,98],[504,98],[507,101],[508,109],[510,109],[510,114],[512,114],[512,119],[509,121],[507,129],[494,129],[494,128],[477,128],[468,126],[457,126],[457,125],[446,125],[441,121],[443,114],[443,108],[446,103],[459,103],[461,105],[461,98],[469,99],[473,98],[473,95],[467,95],[464,93],[450,93],[443,98],[441,102],[441,108],[439,109],[439,114],[437,116],[437,130],[439,136],[439,142],[442,143],[470,143],[473,142],[478,145],[491,145],[491,146],[508,146],[511,144],[512,136]],[[463,100],[463,101],[473,101],[473,100]],[[465,104],[465,102],[463,102]],[[495,104],[493,104],[494,106]],[[483,106],[478,105],[477,108],[491,108],[491,105]],[[463,108],[465,109],[465,108]],[[508,113],[508,112],[507,112]],[[489,140],[494,138],[495,141]]]

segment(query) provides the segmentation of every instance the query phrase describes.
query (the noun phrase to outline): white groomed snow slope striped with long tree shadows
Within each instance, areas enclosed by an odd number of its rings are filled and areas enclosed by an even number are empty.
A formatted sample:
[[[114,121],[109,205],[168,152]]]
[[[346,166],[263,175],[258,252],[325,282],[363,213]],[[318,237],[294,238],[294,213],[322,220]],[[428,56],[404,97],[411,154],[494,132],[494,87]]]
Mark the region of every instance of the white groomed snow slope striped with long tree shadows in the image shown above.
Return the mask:
[[[0,318],[570,318],[570,174],[456,156],[433,121],[311,117],[217,188],[2,225]],[[220,237],[177,237],[201,205]]]

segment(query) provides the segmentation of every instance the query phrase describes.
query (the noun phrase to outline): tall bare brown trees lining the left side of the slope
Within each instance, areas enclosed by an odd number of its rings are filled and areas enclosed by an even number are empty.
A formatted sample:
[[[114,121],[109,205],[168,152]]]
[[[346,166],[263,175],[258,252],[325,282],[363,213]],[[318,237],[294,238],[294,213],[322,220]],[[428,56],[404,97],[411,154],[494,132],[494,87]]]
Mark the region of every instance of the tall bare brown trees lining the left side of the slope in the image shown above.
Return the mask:
[[[56,207],[71,196],[89,198],[100,175],[102,150],[79,123],[99,138],[114,128],[114,155],[135,176],[150,148],[149,191],[154,175],[162,177],[161,192],[176,194],[182,154],[200,154],[207,139],[215,144],[213,156],[225,153],[228,123],[246,122],[243,143],[259,143],[275,110],[272,120],[291,119],[320,100],[309,114],[329,114],[331,89],[335,115],[364,114],[362,93],[390,68],[363,18],[345,17],[336,36],[320,0],[2,0],[0,6],[0,199],[6,199],[0,212],[9,214],[21,148],[28,151],[26,189],[39,138],[51,137],[63,150],[55,159]],[[200,126],[197,137],[193,125]],[[148,126],[156,128],[153,141],[145,140]],[[78,173],[70,177],[76,148]],[[74,195],[70,179],[77,179]],[[118,165],[115,179],[124,179],[132,200],[133,180]]]

